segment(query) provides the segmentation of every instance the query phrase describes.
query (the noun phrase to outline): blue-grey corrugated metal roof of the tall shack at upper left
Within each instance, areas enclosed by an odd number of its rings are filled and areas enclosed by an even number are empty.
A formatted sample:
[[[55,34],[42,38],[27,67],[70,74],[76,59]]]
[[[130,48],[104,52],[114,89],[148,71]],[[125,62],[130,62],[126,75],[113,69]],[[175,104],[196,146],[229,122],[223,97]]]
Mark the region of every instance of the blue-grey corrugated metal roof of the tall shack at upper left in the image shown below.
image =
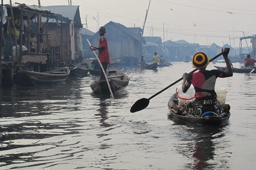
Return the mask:
[[[75,27],[82,28],[79,6],[77,5],[54,5],[54,6],[42,6],[43,9],[49,10],[55,14],[61,14],[64,17],[67,17],[75,22]],[[46,19],[44,19],[46,22]],[[55,19],[49,19],[49,22],[56,22]]]

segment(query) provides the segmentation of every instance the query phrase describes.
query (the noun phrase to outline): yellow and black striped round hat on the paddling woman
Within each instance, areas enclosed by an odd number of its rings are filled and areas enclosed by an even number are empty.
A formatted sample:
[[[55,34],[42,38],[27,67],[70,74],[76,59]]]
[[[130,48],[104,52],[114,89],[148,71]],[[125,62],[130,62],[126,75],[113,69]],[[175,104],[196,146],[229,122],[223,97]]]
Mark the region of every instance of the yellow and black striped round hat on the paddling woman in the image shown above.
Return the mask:
[[[193,56],[192,64],[197,69],[205,68],[209,64],[209,58],[204,52],[198,52]]]

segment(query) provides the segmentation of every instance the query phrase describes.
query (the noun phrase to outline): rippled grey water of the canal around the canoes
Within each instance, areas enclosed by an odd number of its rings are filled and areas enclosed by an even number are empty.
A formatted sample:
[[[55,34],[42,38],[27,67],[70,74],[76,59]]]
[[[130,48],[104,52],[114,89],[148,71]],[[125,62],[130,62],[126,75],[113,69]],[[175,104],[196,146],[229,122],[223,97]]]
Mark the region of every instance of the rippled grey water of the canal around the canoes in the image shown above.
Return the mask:
[[[157,71],[121,69],[130,82],[114,100],[92,93],[93,76],[55,85],[3,87],[0,169],[255,169],[256,74],[217,79],[218,87],[227,88],[231,106],[223,127],[169,120],[167,103],[179,83],[150,99],[146,109],[130,113],[135,101],[194,69],[190,63],[172,64]],[[208,69],[214,69],[212,63]],[[67,99],[74,103],[67,104]]]

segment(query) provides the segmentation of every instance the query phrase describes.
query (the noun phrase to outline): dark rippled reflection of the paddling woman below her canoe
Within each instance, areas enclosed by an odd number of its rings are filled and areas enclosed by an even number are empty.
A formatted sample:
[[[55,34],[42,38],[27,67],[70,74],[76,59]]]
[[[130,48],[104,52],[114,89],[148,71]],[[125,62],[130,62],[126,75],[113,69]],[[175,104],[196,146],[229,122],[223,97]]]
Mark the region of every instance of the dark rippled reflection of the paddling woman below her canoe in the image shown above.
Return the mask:
[[[180,140],[177,150],[192,160],[186,164],[186,168],[193,170],[216,169],[216,166],[228,169],[230,165],[228,160],[216,162],[216,157],[222,157],[215,154],[220,148],[227,150],[228,143],[225,138],[224,127],[213,126],[192,126],[186,125],[184,128],[184,138]],[[216,151],[217,150],[217,151]]]

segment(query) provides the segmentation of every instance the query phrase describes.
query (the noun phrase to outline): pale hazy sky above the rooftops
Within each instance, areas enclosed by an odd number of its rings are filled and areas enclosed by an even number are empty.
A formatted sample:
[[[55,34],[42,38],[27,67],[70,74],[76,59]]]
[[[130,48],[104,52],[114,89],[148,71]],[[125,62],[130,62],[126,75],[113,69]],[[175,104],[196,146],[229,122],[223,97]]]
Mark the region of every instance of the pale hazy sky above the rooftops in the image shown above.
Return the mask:
[[[72,5],[80,6],[82,23],[86,23],[87,15],[88,28],[96,32],[98,24],[109,21],[142,28],[149,1],[72,0]],[[38,5],[38,0],[12,0],[15,2]],[[68,5],[68,0],[41,0],[41,5]],[[184,39],[200,45],[231,42],[232,47],[239,47],[236,37],[243,37],[243,31],[245,36],[256,33],[255,5],[255,0],[151,0],[144,36],[153,34],[165,41]],[[229,36],[236,39],[230,40]],[[249,39],[247,42],[250,46]]]

